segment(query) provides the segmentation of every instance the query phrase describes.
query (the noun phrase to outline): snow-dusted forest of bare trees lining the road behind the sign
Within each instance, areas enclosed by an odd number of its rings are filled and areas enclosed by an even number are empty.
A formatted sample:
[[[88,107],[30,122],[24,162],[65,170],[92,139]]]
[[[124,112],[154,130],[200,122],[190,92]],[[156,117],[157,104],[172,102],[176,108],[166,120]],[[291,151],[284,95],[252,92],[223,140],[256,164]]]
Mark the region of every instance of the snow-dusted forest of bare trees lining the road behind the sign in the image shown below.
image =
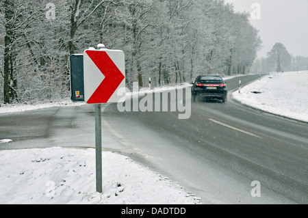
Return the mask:
[[[261,48],[250,14],[223,0],[1,0],[0,105],[70,96],[69,57],[125,53],[126,84],[246,74]]]

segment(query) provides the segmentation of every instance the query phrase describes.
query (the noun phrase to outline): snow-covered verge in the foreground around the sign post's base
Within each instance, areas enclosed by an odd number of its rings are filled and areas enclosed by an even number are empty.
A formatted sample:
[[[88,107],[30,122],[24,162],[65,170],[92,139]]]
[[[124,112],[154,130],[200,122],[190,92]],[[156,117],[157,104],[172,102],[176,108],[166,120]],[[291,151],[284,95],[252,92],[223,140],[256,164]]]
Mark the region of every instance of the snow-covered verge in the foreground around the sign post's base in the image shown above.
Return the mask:
[[[177,183],[103,152],[103,193],[95,187],[95,150],[0,150],[0,204],[200,204]]]

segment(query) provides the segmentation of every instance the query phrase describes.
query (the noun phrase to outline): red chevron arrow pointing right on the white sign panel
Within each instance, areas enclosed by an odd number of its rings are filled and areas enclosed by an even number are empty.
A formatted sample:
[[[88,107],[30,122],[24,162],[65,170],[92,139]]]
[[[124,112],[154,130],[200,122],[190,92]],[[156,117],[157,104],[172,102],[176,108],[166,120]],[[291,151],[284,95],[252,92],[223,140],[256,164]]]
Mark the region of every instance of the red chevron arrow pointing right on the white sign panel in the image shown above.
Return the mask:
[[[105,79],[88,100],[88,104],[107,103],[125,78],[105,51],[86,51],[92,62],[101,70]]]

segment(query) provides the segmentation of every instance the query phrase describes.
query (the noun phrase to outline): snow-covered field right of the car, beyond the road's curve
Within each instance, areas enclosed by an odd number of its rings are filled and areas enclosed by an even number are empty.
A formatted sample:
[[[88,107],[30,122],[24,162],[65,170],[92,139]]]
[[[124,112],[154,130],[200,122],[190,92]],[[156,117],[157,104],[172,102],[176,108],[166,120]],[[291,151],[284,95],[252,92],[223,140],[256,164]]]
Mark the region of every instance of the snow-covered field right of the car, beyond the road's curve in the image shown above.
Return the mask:
[[[232,95],[244,105],[308,122],[308,71],[270,73]]]

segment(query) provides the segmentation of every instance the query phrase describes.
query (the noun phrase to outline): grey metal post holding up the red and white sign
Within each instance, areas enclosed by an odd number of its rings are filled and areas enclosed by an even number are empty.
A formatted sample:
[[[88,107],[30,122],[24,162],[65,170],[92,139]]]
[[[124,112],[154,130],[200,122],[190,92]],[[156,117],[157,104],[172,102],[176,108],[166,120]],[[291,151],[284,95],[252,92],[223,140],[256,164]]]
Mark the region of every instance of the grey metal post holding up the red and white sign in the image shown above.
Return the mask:
[[[97,192],[103,193],[102,161],[101,161],[101,104],[95,105],[95,156]]]

